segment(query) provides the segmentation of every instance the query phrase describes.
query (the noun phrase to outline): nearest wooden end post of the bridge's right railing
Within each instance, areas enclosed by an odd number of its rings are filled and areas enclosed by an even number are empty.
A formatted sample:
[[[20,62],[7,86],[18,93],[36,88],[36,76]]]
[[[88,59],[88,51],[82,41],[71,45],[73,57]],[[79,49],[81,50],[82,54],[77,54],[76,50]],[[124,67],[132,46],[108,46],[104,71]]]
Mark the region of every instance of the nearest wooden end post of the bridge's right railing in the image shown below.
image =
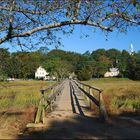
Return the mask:
[[[108,115],[104,106],[104,101],[103,101],[103,93],[99,93],[99,109],[100,109],[100,118],[102,120],[107,121],[108,120]]]

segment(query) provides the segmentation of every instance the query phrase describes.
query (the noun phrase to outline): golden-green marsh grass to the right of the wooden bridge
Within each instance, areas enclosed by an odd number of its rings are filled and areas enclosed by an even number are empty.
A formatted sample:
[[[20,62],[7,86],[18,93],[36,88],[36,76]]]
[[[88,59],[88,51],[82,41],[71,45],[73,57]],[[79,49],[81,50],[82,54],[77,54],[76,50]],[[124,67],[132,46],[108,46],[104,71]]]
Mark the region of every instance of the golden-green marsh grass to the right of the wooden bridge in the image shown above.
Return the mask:
[[[86,82],[103,89],[105,105],[111,114],[140,109],[140,81],[101,78]]]

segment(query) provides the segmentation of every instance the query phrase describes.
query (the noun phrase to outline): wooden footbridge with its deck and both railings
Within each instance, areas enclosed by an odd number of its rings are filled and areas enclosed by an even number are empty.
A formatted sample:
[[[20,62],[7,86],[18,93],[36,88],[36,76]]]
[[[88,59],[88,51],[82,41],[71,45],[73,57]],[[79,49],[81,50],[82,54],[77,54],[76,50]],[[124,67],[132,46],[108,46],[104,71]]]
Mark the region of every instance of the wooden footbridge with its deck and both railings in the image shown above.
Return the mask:
[[[103,90],[77,80],[65,80],[59,84],[43,88],[34,123],[27,127],[43,127],[54,116],[88,116],[94,112],[93,105],[99,110],[99,118],[106,121],[107,112],[103,102]],[[49,94],[48,94],[49,93]],[[96,95],[94,95],[96,94]],[[49,113],[46,111],[49,110]]]

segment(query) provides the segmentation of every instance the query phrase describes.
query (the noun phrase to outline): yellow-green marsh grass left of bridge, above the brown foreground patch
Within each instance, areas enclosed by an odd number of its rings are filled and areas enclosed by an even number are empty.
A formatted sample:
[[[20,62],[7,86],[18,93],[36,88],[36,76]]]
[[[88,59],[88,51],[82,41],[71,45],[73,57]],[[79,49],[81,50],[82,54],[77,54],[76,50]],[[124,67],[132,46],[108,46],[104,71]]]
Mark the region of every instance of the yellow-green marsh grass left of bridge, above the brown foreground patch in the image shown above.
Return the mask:
[[[0,82],[0,109],[37,106],[41,95],[40,88],[52,84],[46,81]]]

